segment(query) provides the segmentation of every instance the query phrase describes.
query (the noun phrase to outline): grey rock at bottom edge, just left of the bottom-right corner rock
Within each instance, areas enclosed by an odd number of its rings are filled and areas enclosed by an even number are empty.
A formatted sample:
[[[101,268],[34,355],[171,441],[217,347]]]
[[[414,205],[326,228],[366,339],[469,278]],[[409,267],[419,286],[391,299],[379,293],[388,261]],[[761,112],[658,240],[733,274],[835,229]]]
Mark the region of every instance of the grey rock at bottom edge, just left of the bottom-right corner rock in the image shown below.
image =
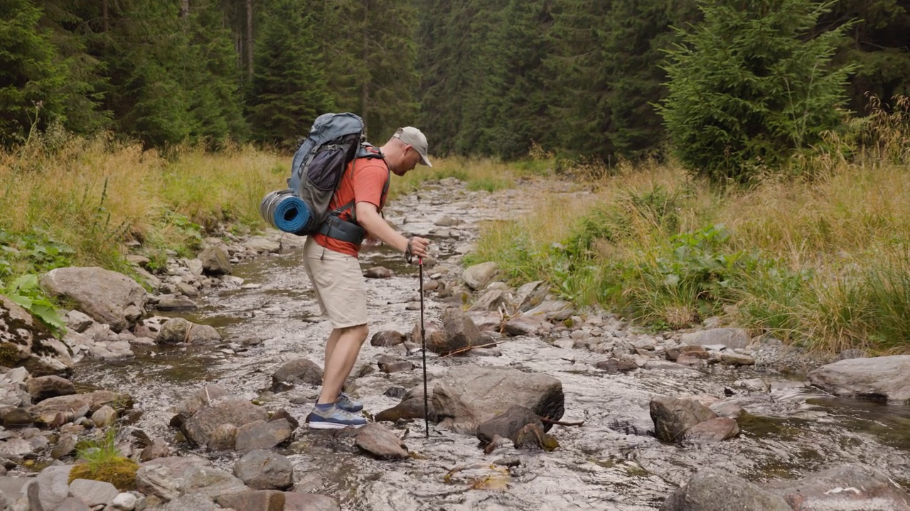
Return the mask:
[[[793,511],[780,496],[729,471],[704,468],[663,502],[661,511]]]

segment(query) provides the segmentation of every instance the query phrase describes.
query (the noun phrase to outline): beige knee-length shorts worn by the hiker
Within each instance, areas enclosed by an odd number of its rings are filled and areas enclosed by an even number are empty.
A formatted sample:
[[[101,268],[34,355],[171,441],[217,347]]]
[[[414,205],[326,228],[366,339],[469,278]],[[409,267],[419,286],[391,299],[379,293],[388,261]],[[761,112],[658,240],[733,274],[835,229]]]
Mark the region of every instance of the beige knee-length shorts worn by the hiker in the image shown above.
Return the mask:
[[[303,266],[316,291],[323,316],[333,328],[367,324],[367,286],[357,257],[323,248],[308,237]]]

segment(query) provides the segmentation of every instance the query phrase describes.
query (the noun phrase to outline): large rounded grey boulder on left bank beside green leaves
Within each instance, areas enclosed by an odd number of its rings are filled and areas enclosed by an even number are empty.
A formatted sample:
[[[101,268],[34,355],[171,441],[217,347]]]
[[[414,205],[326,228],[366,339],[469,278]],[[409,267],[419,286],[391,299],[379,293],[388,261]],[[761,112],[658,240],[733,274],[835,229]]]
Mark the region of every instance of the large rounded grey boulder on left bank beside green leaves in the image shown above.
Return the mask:
[[[148,298],[135,280],[96,266],[53,269],[41,277],[41,286],[75,301],[76,308],[115,332],[136,325]]]

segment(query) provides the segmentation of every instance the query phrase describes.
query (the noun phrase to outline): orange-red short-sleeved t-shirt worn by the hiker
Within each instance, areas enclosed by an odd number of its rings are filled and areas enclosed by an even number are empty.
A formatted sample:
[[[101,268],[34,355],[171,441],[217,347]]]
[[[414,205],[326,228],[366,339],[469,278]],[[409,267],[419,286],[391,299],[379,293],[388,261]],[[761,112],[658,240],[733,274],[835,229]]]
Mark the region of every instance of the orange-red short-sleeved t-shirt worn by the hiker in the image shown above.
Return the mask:
[[[353,167],[353,168],[351,168]],[[335,190],[335,196],[329,202],[329,209],[333,210],[342,205],[348,204],[351,199],[356,206],[359,202],[369,202],[375,205],[377,209],[382,210],[386,203],[386,196],[382,193],[386,185],[386,179],[389,179],[389,166],[385,160],[379,158],[357,158],[352,161],[341,176],[338,188]],[[344,220],[350,220],[351,212],[346,211],[341,214]],[[354,245],[347,241],[331,238],[327,235],[314,234],[313,240],[329,250],[340,252],[341,254],[353,255],[357,257],[360,252],[360,245]]]

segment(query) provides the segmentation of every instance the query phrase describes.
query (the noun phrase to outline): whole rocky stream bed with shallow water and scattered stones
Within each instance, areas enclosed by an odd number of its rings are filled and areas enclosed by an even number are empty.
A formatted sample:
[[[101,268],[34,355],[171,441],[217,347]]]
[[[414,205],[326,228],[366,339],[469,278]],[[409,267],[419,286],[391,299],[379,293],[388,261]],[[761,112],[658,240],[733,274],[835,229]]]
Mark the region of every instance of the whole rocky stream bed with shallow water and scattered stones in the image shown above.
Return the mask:
[[[154,276],[137,253],[150,295],[98,269],[44,276],[81,312],[61,343],[4,303],[0,334],[16,346],[4,364],[17,366],[0,379],[6,503],[910,510],[910,357],[818,361],[712,320],[646,333],[542,283],[510,288],[490,264],[460,266],[480,223],[502,221],[505,205],[521,215],[536,193],[585,192],[527,182],[490,196],[450,179],[387,209],[436,241],[424,268],[429,438],[418,268],[385,248],[361,259],[372,338],[348,390],[376,422],[356,432],[303,424],[329,325],[302,239],[225,233]],[[140,464],[136,488],[69,484],[76,440],[110,425]]]

